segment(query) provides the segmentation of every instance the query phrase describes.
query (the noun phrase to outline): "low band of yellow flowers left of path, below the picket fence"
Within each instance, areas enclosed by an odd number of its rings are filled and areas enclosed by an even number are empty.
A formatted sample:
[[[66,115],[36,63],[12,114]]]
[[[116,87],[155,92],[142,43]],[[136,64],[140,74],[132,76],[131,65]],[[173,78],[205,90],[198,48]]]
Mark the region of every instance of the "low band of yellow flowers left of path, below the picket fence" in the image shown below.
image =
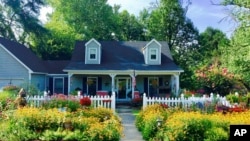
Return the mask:
[[[119,141],[120,119],[109,109],[85,108],[75,112],[23,107],[5,111],[0,140]]]

